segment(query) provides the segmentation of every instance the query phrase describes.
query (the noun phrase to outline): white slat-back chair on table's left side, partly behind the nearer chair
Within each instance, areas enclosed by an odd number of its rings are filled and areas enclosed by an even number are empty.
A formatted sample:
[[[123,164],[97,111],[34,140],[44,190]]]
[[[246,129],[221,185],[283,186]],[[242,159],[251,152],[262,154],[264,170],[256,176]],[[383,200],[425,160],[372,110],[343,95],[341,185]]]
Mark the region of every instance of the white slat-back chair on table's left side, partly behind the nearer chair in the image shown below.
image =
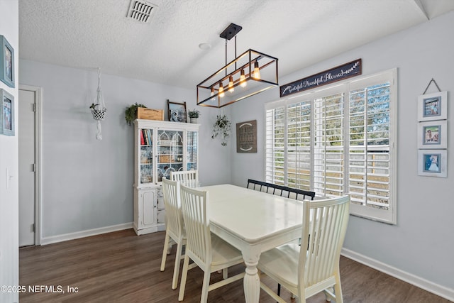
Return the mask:
[[[170,250],[170,241],[177,243],[177,255],[172,278],[172,290],[178,286],[179,264],[182,259],[183,246],[186,245],[186,231],[184,230],[183,214],[179,198],[179,182],[162,178],[162,191],[165,204],[165,241],[162,250],[161,271],[165,270],[165,260]]]

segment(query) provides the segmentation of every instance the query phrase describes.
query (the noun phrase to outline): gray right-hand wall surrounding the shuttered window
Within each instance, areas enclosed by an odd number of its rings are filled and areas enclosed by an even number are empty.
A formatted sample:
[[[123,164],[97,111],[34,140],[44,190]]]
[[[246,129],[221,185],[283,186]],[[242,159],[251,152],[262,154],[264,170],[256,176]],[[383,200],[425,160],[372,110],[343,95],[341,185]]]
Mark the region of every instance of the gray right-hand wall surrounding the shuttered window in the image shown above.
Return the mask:
[[[454,142],[454,41],[450,38],[453,28],[454,12],[450,12],[282,77],[279,83],[289,83],[358,58],[362,58],[362,75],[398,68],[397,225],[350,216],[344,248],[448,287],[454,294],[454,154],[448,150],[446,179],[421,177],[416,169],[417,97],[432,78],[441,90],[448,91],[448,148]],[[430,92],[437,92],[435,85],[431,84]],[[259,146],[257,154],[236,153],[235,146],[231,146],[234,184],[244,186],[248,177],[264,179],[262,104],[277,99],[279,92],[273,89],[232,106],[234,123],[257,119]]]

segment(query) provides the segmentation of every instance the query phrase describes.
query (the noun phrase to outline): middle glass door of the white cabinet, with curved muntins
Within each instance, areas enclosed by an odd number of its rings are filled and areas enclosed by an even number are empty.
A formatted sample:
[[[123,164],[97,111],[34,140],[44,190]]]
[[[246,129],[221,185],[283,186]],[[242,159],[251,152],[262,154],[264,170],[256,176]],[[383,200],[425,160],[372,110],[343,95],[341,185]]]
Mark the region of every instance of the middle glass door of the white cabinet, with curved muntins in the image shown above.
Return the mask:
[[[170,172],[183,170],[183,131],[157,131],[157,182]]]

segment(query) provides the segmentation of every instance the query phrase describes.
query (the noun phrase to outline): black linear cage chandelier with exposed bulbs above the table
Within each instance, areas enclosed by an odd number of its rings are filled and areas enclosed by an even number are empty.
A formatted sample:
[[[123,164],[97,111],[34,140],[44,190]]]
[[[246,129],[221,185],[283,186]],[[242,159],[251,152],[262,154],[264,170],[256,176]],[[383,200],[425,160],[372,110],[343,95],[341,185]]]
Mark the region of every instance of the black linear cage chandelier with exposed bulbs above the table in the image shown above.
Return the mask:
[[[277,87],[277,58],[256,50],[236,57],[236,34],[231,23],[220,35],[226,40],[226,65],[197,85],[197,105],[220,108]],[[235,60],[227,63],[227,41],[235,37]]]

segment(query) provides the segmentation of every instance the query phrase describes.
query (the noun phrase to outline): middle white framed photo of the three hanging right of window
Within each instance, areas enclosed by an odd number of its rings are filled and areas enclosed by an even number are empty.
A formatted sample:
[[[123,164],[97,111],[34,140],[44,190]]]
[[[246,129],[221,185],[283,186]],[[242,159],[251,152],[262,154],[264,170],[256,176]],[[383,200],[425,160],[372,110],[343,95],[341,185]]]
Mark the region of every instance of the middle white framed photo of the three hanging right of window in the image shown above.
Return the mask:
[[[448,148],[448,121],[418,123],[418,148]]]

